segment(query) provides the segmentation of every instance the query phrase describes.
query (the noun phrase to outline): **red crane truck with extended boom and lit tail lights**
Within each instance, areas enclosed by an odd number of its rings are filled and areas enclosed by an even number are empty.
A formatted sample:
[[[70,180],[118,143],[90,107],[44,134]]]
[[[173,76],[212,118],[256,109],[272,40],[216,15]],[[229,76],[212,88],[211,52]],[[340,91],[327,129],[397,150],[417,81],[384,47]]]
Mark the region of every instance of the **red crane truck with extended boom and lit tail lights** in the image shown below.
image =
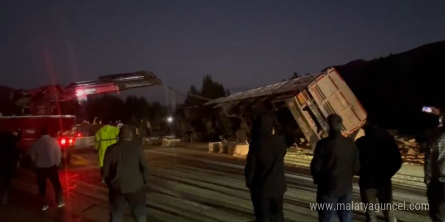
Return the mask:
[[[16,116],[0,115],[0,130],[19,131],[22,134],[18,147],[23,156],[39,137],[38,130],[47,127],[55,136],[63,150],[63,157],[69,162],[74,150],[76,138],[75,116],[61,114],[61,102],[77,99],[86,100],[87,95],[118,92],[125,89],[161,85],[162,82],[153,73],[140,71],[135,73],[111,74],[100,76],[97,80],[71,83],[62,88],[59,85],[43,86],[31,90],[15,90],[18,97],[13,103],[20,110]],[[2,101],[3,102],[3,101]],[[2,113],[0,107],[0,114]]]

